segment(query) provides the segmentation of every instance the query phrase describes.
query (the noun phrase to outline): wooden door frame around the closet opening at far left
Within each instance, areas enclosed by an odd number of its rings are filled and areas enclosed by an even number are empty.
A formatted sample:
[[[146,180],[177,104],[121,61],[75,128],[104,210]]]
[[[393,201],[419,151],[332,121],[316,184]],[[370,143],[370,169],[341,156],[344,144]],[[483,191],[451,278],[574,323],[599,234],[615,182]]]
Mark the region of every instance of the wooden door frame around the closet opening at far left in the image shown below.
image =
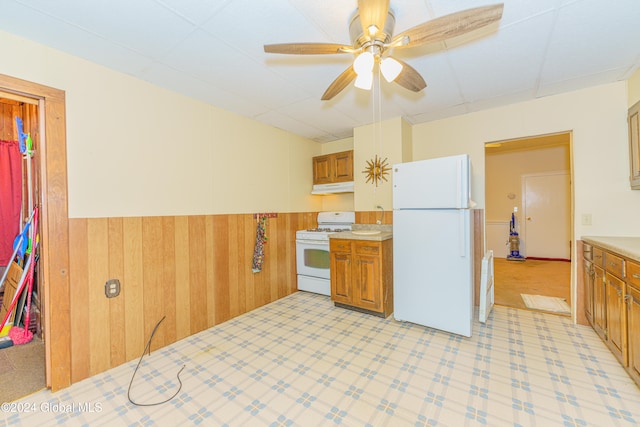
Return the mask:
[[[71,384],[71,304],[65,92],[0,74],[0,91],[37,100],[40,127],[40,277],[46,385]]]

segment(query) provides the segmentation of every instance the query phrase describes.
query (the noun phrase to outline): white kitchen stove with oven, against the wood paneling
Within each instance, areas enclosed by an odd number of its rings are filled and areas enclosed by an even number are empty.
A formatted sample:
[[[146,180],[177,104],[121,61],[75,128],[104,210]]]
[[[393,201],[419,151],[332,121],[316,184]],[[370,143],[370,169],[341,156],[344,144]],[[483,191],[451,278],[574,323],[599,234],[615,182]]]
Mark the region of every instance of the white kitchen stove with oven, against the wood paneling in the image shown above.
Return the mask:
[[[331,295],[329,234],[351,230],[355,212],[320,212],[318,228],[296,231],[298,289]]]

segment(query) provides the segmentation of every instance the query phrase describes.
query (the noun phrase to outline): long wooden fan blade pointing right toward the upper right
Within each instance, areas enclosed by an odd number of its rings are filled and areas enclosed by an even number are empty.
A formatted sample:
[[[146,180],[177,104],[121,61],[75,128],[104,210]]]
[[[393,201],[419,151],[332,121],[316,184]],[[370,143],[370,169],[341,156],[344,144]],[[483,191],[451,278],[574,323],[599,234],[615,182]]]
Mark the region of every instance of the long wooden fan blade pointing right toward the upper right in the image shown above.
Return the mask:
[[[394,41],[405,38],[408,40],[408,42],[399,43],[395,48],[443,41],[477,30],[499,21],[502,18],[503,8],[502,3],[476,7],[424,22],[395,36]]]

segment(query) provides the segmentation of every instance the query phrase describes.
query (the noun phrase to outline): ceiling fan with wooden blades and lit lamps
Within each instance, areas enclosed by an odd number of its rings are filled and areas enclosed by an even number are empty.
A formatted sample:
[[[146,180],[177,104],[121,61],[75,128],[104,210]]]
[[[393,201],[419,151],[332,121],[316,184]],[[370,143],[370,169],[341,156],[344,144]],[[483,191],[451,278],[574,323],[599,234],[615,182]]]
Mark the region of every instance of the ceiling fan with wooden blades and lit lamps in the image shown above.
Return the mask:
[[[379,64],[380,72],[387,81],[420,92],[427,87],[422,76],[406,62],[392,58],[391,50],[443,41],[485,27],[502,18],[503,7],[503,4],[495,4],[455,12],[394,36],[395,16],[389,9],[389,0],[358,0],[358,9],[349,24],[350,46],[336,43],[279,43],[264,45],[264,51],[293,55],[356,55],[353,64],[329,85],[322,95],[323,101],[336,96],[354,80],[356,87],[371,89],[375,64]]]

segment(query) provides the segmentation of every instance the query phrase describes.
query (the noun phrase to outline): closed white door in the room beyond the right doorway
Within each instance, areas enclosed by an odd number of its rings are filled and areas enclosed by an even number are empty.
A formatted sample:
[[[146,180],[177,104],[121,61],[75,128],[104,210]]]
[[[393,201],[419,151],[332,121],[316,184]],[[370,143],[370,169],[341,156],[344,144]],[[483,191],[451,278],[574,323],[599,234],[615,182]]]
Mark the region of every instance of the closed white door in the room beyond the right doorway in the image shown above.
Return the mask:
[[[569,173],[522,177],[520,227],[527,257],[571,259],[571,183]]]

